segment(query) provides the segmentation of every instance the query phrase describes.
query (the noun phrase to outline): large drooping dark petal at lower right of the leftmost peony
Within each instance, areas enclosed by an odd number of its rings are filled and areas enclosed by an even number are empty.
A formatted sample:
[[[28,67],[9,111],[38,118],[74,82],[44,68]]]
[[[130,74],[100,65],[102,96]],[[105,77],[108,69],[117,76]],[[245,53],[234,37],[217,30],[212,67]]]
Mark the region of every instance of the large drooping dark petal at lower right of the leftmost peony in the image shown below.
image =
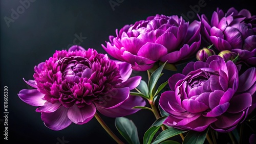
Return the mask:
[[[122,103],[122,105],[116,108],[105,109],[98,105],[96,105],[96,107],[97,107],[97,110],[100,113],[104,114],[105,116],[121,117],[121,116],[133,114],[140,110],[140,109],[133,109],[133,107],[145,106],[145,105],[146,105],[146,102],[141,97],[131,95],[129,99],[127,99],[124,103]]]

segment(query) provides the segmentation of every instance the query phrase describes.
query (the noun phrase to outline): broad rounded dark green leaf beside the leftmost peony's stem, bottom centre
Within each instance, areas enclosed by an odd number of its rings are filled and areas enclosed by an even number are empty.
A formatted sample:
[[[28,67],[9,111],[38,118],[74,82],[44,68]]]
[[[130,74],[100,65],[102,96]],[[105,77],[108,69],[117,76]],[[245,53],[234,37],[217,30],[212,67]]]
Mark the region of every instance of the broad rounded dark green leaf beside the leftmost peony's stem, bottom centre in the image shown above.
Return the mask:
[[[129,143],[140,143],[137,127],[134,123],[125,117],[117,117],[115,119],[115,126],[119,133],[129,142]]]

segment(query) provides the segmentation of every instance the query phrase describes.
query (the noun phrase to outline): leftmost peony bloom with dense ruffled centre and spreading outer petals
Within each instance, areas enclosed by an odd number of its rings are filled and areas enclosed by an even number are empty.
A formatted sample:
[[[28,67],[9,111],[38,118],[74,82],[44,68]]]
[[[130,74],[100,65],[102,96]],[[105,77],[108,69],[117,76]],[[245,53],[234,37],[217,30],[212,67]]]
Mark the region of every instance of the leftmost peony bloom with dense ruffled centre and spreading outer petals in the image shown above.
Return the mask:
[[[72,122],[89,122],[96,109],[110,117],[129,115],[144,106],[142,98],[131,96],[141,77],[129,78],[131,65],[113,61],[93,49],[74,45],[69,51],[56,51],[53,57],[35,66],[34,80],[25,81],[35,89],[20,90],[25,103],[39,106],[41,119],[52,130]]]

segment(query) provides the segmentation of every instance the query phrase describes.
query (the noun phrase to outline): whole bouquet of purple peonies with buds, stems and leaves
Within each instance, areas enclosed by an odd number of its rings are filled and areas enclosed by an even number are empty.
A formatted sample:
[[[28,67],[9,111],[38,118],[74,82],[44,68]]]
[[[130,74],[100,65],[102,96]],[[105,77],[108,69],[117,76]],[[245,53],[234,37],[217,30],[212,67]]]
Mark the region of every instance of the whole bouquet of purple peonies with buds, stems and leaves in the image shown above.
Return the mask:
[[[56,51],[35,66],[34,80],[24,80],[33,89],[18,97],[36,106],[52,130],[95,117],[117,143],[141,142],[134,123],[123,117],[141,109],[156,117],[143,143],[217,143],[223,133],[233,143],[256,143],[256,16],[248,10],[217,9],[211,19],[203,14],[192,22],[150,16],[116,30],[102,47],[116,60],[78,45]],[[159,83],[163,69],[177,71],[182,64],[182,73]],[[130,77],[133,70],[147,71],[148,79]],[[127,141],[98,113],[116,117]],[[245,128],[251,136],[242,139]]]

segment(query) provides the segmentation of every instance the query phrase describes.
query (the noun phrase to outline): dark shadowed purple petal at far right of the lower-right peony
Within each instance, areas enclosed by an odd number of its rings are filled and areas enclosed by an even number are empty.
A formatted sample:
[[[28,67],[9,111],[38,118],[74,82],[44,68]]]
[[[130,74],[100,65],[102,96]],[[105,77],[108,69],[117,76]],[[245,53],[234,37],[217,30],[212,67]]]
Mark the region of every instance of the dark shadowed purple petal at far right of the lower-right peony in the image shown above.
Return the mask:
[[[252,103],[251,94],[250,93],[242,93],[234,96],[230,100],[230,106],[227,112],[229,113],[238,113],[246,108],[250,107]]]

